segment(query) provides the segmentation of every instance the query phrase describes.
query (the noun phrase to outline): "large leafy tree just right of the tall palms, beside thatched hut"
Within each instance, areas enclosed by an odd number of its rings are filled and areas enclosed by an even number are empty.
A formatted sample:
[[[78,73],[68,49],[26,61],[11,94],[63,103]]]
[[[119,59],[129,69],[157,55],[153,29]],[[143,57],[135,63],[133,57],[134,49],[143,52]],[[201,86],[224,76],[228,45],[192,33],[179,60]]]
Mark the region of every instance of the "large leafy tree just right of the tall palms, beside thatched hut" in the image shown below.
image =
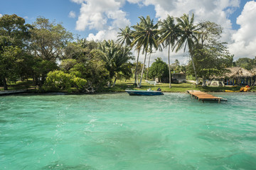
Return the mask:
[[[199,26],[200,43],[193,47],[193,56],[198,77],[203,78],[203,86],[206,86],[206,79],[222,74],[233,56],[225,47],[225,42],[218,41],[222,33],[218,24],[204,21]]]

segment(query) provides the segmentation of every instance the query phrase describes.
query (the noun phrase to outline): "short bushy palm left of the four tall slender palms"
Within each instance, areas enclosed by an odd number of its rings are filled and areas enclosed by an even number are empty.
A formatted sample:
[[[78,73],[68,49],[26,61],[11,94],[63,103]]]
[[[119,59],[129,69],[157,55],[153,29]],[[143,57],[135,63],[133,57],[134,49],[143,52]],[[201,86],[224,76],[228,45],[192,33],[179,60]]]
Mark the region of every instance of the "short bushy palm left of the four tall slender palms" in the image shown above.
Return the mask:
[[[129,60],[134,60],[132,53],[127,48],[114,43],[113,40],[103,41],[100,43],[100,50],[103,52],[102,60],[106,63],[106,69],[110,72],[110,79],[114,78],[114,84],[117,81],[117,75],[127,70],[127,63]],[[124,52],[125,51],[125,52]],[[109,87],[111,86],[111,81]],[[113,86],[114,86],[113,84]]]

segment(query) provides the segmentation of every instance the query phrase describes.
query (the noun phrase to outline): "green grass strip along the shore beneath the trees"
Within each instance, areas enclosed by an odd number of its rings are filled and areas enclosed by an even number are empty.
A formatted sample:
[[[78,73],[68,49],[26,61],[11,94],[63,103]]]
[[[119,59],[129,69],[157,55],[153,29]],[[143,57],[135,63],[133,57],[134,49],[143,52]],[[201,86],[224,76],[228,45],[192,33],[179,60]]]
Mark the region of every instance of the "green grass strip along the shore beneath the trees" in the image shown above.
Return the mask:
[[[130,79],[127,81],[117,81],[116,85],[114,87],[111,88],[107,88],[105,87],[104,89],[102,89],[101,91],[97,91],[97,92],[103,92],[103,93],[109,93],[109,92],[124,92],[125,89],[139,89],[137,88],[137,86],[134,86],[134,79]],[[154,91],[156,91],[158,88],[161,88],[161,91],[164,92],[186,92],[188,90],[199,90],[199,91],[206,91],[206,92],[210,92],[210,91],[215,91],[215,92],[220,92],[220,91],[225,91],[225,90],[231,90],[231,91],[238,91],[240,89],[240,86],[224,86],[224,87],[213,87],[213,86],[207,86],[207,87],[203,87],[200,85],[195,85],[195,84],[191,84],[191,83],[183,83],[183,84],[171,84],[171,89],[169,88],[169,84],[156,84],[156,86],[154,86],[153,84],[147,84],[146,81],[142,81],[142,88],[140,88],[141,90],[146,90],[146,89],[152,89]],[[38,90],[36,90],[36,86],[33,85],[33,81],[32,80],[28,80],[28,81],[17,81],[16,83],[12,83],[9,86],[9,90],[21,90],[21,89],[30,89],[29,91],[31,92],[39,92]],[[3,88],[1,87],[0,90],[3,90]],[[54,89],[47,89],[47,92],[53,92],[55,91]],[[255,92],[256,91],[256,87],[253,88],[251,91]],[[61,91],[61,92],[65,92],[65,91]],[[76,89],[72,90],[72,93],[78,93],[76,91]]]

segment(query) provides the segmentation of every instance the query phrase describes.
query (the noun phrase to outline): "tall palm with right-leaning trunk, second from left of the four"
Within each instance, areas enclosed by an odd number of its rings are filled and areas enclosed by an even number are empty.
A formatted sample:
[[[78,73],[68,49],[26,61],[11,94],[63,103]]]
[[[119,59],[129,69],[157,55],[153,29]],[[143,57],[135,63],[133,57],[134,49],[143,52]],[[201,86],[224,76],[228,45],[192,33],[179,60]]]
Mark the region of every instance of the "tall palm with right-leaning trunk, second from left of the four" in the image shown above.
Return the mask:
[[[144,57],[144,64],[142,68],[142,76],[139,81],[138,87],[142,86],[142,78],[143,78],[143,72],[146,62],[146,53],[149,49],[152,49],[153,47],[157,50],[159,48],[159,44],[157,42],[159,36],[158,36],[158,24],[154,24],[154,20],[146,16],[146,18],[139,17],[140,23],[136,26],[132,26],[132,28],[135,29],[134,33],[132,34],[134,36],[134,40],[132,42],[132,46],[136,45],[136,49],[138,51],[142,50],[142,53],[145,53]],[[143,47],[143,48],[142,48]],[[139,53],[139,52],[138,52]]]

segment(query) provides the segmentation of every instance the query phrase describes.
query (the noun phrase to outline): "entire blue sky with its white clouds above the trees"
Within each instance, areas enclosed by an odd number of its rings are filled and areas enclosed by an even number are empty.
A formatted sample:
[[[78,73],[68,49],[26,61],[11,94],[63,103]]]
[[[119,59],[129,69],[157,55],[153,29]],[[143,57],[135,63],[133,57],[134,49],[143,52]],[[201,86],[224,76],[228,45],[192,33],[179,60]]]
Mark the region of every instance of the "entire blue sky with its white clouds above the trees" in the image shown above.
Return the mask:
[[[256,2],[247,0],[0,0],[0,16],[16,13],[27,23],[43,16],[87,40],[116,39],[119,28],[136,24],[139,16],[158,21],[167,14],[179,17],[193,12],[196,22],[208,20],[223,26],[223,41],[235,58],[256,56],[254,11]],[[178,55],[183,54],[173,54],[173,60]],[[166,54],[162,52],[161,57]]]

